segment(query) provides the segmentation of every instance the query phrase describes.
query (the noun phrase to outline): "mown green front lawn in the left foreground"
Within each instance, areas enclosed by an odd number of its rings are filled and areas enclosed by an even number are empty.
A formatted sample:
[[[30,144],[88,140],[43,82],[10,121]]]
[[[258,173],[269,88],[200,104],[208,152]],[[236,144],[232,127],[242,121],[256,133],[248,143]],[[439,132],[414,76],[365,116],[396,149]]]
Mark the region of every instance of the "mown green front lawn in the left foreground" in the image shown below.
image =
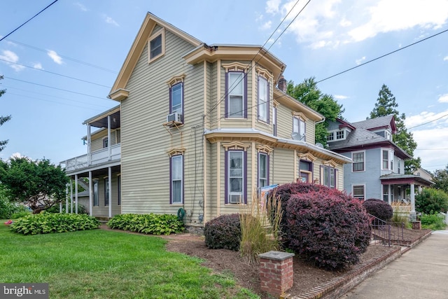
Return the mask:
[[[0,281],[46,282],[50,298],[258,298],[230,274],[165,250],[159,237],[108,230],[19,235],[0,222]]]

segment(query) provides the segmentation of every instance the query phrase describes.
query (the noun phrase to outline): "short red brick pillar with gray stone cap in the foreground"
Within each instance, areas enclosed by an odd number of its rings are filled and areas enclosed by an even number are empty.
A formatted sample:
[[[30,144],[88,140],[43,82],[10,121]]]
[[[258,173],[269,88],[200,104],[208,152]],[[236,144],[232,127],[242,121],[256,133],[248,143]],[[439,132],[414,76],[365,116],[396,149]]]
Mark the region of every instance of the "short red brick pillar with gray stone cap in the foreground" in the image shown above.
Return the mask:
[[[268,251],[259,254],[262,291],[280,296],[293,286],[294,253]]]

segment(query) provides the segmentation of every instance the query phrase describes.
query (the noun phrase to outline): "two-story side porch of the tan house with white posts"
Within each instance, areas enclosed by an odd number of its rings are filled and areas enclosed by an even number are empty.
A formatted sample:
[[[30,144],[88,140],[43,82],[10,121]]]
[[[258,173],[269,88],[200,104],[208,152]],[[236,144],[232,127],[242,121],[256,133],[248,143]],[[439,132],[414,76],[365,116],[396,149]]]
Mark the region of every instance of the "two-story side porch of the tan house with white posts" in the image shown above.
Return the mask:
[[[120,106],[85,120],[83,125],[87,125],[83,137],[87,154],[59,163],[71,181],[66,189],[66,211],[78,214],[80,197],[88,194],[90,216],[111,218],[121,214]],[[87,194],[80,193],[82,189]]]

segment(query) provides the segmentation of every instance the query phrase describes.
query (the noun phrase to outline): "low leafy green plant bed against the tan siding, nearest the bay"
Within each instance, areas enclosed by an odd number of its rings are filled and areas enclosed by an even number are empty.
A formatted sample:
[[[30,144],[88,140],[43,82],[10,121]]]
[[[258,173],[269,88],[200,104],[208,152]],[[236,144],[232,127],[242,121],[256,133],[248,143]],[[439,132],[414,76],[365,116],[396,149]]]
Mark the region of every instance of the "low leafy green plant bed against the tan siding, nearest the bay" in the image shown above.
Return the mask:
[[[185,230],[183,221],[171,214],[120,214],[113,216],[107,225],[109,228],[151,235],[169,235]]]

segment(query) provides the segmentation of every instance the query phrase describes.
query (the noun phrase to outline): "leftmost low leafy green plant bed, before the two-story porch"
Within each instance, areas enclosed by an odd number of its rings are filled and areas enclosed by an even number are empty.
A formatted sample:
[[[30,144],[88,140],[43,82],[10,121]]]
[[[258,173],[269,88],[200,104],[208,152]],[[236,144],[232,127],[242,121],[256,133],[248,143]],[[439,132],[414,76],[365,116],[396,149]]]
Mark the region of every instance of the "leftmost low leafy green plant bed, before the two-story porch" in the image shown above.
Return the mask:
[[[85,214],[53,214],[45,212],[18,218],[10,225],[10,229],[13,232],[23,235],[93,230],[98,227],[99,221]]]

